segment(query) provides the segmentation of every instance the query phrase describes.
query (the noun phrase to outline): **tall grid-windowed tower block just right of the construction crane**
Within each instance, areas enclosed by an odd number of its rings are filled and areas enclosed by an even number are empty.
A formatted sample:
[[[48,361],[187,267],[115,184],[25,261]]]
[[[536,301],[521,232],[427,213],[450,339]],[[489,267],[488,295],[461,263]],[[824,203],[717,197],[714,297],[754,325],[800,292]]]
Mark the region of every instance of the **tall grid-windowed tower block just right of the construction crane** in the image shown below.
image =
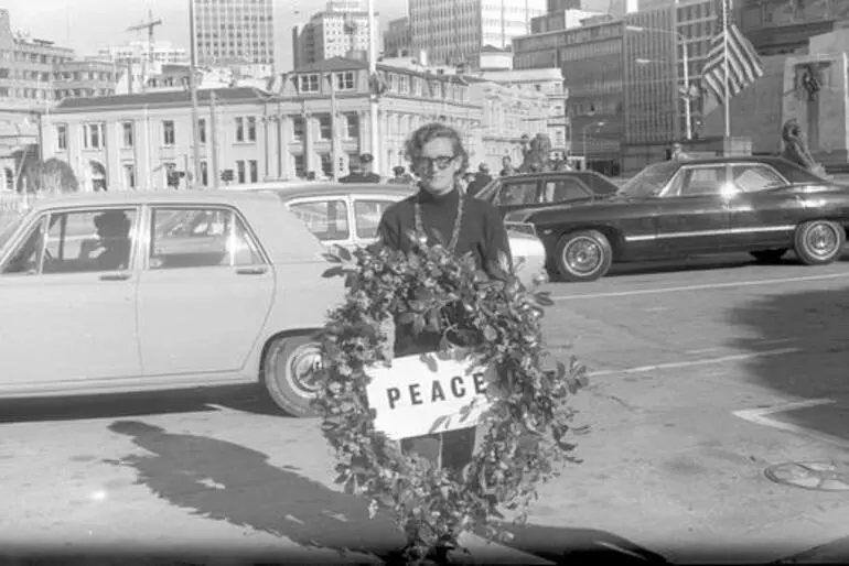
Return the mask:
[[[201,65],[275,64],[273,0],[191,0]]]

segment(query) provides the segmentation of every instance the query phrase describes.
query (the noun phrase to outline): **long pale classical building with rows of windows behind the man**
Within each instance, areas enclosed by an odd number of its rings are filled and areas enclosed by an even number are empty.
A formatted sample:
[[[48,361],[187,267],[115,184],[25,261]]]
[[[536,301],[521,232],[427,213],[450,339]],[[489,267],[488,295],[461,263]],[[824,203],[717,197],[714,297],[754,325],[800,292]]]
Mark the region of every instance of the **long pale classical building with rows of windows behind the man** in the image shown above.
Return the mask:
[[[273,92],[200,90],[200,186],[214,186],[225,170],[233,171],[236,184],[309,172],[341,176],[364,152],[388,175],[406,164],[410,132],[430,121],[455,127],[473,166],[491,168],[505,155],[520,161],[522,134],[546,132],[545,92],[386,65],[378,74],[386,90],[378,105],[377,148],[369,133],[368,67],[357,59],[308,65],[283,75]],[[83,191],[164,188],[170,171],[195,171],[192,137],[186,91],[68,99],[41,117],[45,159],[71,164]]]

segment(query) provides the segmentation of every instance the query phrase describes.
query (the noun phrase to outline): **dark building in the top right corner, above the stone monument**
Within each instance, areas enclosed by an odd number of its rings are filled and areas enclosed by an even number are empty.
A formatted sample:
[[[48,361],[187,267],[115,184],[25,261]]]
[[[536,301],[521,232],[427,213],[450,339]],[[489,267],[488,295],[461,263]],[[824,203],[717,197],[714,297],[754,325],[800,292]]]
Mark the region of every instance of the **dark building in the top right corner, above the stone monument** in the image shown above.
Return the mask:
[[[803,50],[810,37],[831,32],[849,20],[846,0],[739,0],[734,8],[740,30],[762,55]]]

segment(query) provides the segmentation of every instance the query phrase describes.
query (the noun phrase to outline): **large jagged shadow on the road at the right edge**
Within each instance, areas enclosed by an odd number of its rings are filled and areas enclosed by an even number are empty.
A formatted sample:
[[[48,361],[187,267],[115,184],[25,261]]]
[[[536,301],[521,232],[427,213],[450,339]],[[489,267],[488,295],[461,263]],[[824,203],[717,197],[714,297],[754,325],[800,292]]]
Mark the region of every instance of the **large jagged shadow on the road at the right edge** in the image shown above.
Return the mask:
[[[849,287],[761,296],[734,307],[729,322],[749,330],[748,338],[732,342],[744,351],[763,351],[764,342],[803,350],[749,360],[751,380],[792,398],[836,402],[773,413],[770,418],[849,443]]]

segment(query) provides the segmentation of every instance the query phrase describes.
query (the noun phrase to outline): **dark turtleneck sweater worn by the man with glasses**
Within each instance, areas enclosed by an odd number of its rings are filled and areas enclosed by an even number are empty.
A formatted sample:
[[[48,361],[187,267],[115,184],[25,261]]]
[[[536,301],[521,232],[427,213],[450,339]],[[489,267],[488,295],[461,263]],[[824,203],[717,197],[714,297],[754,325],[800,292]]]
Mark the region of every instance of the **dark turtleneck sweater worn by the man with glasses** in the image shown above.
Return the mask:
[[[409,251],[412,242],[407,232],[416,230],[416,203],[421,203],[421,224],[430,243],[448,246],[454,232],[460,198],[463,198],[463,222],[455,253],[473,252],[479,269],[486,269],[490,262],[497,264],[502,253],[512,261],[507,230],[498,210],[490,203],[461,195],[456,188],[439,196],[419,189],[384,213],[377,233],[389,248]]]

